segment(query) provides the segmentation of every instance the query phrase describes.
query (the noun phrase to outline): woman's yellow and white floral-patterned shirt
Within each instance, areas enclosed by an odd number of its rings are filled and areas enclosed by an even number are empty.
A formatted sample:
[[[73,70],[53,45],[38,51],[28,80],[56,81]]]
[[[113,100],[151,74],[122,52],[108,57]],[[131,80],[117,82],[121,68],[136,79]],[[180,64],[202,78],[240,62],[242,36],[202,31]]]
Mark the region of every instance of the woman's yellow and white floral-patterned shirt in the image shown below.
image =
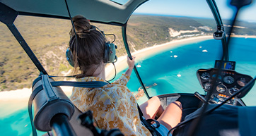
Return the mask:
[[[97,77],[76,78],[79,82],[104,81]],[[119,128],[124,135],[151,135],[139,119],[136,99],[123,74],[112,84],[98,88],[74,87],[71,101],[82,112],[91,110],[98,128]]]

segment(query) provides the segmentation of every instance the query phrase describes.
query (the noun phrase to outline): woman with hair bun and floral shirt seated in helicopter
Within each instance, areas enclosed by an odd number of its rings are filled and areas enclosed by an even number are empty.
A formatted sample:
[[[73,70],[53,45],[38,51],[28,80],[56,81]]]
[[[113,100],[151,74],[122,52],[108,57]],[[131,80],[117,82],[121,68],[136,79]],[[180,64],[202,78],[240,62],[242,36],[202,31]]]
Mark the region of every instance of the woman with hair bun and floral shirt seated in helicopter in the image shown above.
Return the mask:
[[[105,63],[103,63],[105,37],[95,29],[83,16],[73,18],[77,34],[71,29],[70,47],[74,59],[74,68],[81,71],[76,80],[81,82],[105,81]],[[74,87],[70,97],[74,105],[82,112],[91,110],[99,128],[110,130],[119,128],[124,135],[151,135],[141,125],[134,95],[126,87],[134,68],[134,59],[127,57],[128,69],[122,76],[98,88]],[[178,101],[170,104],[165,111],[158,97],[152,97],[141,106],[146,119],[158,117],[161,129],[168,130],[180,123],[182,108]]]

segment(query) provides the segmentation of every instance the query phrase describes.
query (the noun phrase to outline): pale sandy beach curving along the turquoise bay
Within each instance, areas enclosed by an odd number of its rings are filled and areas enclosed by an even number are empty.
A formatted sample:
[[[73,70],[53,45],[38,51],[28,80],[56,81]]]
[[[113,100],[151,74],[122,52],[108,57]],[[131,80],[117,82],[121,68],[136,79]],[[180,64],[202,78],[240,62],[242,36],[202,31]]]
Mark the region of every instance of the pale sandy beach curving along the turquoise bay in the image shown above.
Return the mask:
[[[243,35],[232,35],[232,37],[256,38],[256,36]],[[161,51],[172,49],[174,47],[180,47],[182,45],[189,44],[192,42],[201,42],[208,39],[213,39],[213,37],[211,35],[207,35],[200,37],[190,37],[185,39],[176,39],[165,44],[154,45],[153,47],[148,47],[138,51],[134,51],[132,53],[132,56],[136,56],[135,63],[138,63],[139,61],[149,58],[155,54],[158,54]],[[117,73],[120,73],[120,71],[127,68],[126,61],[127,56],[118,57],[117,63],[115,63]],[[115,73],[115,68],[112,66],[112,64],[109,64],[106,66],[105,71],[106,79],[109,80],[112,78],[112,76],[114,76],[113,73]],[[72,87],[62,87],[62,90],[65,92],[67,96],[70,96],[72,92]],[[14,113],[15,111],[18,111],[20,109],[24,109],[28,104],[28,98],[30,97],[30,94],[31,88],[23,88],[13,91],[0,92],[0,109],[1,111],[4,111],[4,113],[1,114],[0,118],[6,115],[10,115],[11,113]]]

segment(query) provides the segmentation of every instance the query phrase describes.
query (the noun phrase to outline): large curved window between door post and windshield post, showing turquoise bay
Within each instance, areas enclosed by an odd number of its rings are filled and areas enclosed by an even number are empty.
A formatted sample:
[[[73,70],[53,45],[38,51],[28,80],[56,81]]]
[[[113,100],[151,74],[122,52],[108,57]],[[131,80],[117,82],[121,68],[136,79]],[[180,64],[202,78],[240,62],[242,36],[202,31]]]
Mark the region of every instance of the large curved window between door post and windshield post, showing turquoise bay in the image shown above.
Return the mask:
[[[207,3],[200,4],[202,8],[194,6],[182,1],[147,1],[129,18],[129,48],[137,56],[136,68],[150,96],[204,93],[196,71],[214,65],[222,51],[221,41],[212,37],[216,25]],[[139,86],[132,91],[140,90]]]

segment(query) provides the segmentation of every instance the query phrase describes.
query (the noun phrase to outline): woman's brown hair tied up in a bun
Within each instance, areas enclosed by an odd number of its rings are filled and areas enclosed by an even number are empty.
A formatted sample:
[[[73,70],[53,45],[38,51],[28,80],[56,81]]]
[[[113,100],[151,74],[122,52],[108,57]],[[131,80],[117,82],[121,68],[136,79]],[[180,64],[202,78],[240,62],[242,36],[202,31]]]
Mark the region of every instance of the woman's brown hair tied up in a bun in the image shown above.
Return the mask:
[[[69,32],[69,47],[74,60],[74,72],[79,68],[81,74],[91,76],[103,62],[105,37],[98,30],[91,29],[89,20],[83,16],[74,16],[72,20],[76,36],[72,28]]]

